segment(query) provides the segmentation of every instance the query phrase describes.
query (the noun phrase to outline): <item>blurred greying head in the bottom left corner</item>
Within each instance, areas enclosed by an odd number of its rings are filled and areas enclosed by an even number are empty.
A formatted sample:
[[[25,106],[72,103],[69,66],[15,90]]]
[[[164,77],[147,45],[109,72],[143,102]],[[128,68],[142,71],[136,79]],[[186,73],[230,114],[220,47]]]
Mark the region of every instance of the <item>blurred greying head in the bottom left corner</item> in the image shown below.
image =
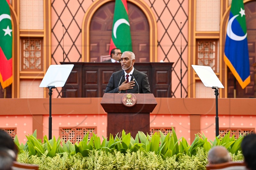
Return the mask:
[[[11,149],[0,147],[0,170],[11,170],[14,158],[16,155]]]

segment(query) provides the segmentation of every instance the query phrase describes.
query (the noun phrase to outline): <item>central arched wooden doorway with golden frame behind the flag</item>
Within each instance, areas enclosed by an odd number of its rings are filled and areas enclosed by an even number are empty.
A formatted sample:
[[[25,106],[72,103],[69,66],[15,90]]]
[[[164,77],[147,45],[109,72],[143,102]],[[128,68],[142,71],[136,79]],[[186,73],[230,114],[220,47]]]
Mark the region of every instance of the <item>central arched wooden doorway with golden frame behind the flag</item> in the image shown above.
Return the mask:
[[[156,62],[157,25],[143,1],[127,0],[133,52],[136,62]],[[95,1],[85,13],[82,28],[82,61],[100,62],[109,54],[115,1]]]

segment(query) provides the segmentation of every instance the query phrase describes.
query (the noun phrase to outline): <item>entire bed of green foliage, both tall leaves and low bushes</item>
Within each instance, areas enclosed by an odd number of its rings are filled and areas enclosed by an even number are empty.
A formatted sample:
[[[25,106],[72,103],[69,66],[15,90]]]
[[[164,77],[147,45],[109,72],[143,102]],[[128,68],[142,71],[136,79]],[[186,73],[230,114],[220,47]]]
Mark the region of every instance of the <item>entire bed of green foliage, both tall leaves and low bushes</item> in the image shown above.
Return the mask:
[[[208,141],[202,134],[195,134],[191,145],[184,137],[177,138],[175,130],[164,135],[161,131],[152,136],[139,131],[135,139],[131,134],[122,134],[109,140],[89,132],[83,140],[72,144],[65,143],[60,137],[48,140],[46,136],[36,139],[33,135],[26,136],[25,145],[19,144],[17,136],[14,139],[20,149],[18,161],[37,164],[40,169],[205,169],[208,163],[208,151],[216,145],[228,149],[234,161],[243,160],[241,141],[230,133],[224,137],[215,137]]]

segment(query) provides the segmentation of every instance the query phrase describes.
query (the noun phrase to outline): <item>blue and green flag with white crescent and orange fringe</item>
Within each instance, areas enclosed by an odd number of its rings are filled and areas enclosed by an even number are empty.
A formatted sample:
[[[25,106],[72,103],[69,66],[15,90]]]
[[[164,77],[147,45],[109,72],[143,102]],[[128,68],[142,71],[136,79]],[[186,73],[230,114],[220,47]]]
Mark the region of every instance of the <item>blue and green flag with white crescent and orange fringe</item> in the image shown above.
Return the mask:
[[[251,79],[243,0],[232,1],[224,53],[225,63],[244,89]]]

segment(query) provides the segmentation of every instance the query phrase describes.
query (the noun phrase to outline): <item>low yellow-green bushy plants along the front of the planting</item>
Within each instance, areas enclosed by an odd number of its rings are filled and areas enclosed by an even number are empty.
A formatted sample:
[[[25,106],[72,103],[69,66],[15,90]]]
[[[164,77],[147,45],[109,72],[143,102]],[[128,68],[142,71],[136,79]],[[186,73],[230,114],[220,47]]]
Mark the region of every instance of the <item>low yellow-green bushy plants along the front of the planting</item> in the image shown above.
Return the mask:
[[[161,170],[202,170],[205,169],[207,162],[207,152],[204,148],[198,148],[198,153],[192,157],[183,153],[177,159],[176,155],[163,159],[155,152],[127,152],[121,153],[114,150],[112,153],[103,150],[91,150],[88,157],[83,157],[80,153],[75,155],[56,154],[51,158],[46,151],[42,156],[29,156],[28,152],[21,152],[18,161],[22,163],[39,165],[39,169],[161,169]],[[235,155],[241,157],[241,153]],[[233,160],[236,159],[233,157]],[[177,161],[176,161],[177,160]],[[241,159],[236,159],[241,160]]]

